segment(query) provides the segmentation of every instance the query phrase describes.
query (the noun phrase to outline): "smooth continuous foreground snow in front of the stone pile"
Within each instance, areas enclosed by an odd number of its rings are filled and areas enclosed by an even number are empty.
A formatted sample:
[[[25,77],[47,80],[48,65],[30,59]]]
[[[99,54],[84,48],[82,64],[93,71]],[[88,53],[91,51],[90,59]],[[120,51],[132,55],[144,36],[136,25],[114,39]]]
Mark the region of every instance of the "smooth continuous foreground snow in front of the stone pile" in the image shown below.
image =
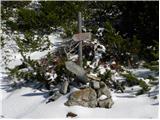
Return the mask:
[[[3,91],[4,92],[4,91]],[[158,105],[146,95],[138,97],[128,93],[112,93],[114,105],[111,109],[67,107],[67,96],[46,104],[45,92],[32,88],[21,88],[3,94],[3,116],[6,118],[65,118],[68,112],[78,114],[78,118],[157,118]],[[129,109],[128,109],[129,108]]]

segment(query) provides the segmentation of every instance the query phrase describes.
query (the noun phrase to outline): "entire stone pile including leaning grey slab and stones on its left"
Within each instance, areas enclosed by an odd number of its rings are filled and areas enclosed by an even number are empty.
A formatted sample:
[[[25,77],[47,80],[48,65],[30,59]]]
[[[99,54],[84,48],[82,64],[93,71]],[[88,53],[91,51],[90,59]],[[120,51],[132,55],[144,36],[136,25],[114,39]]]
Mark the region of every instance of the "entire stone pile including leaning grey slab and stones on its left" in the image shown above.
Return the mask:
[[[74,82],[79,84],[80,90],[72,92],[69,95],[68,101],[65,103],[67,106],[80,105],[84,107],[102,107],[111,108],[114,104],[112,96],[108,86],[101,81],[100,78],[94,77],[92,75],[86,75],[83,68],[77,64],[68,61],[65,63],[66,68],[77,76],[77,80]],[[88,79],[87,79],[88,78]],[[89,83],[88,86],[87,83]],[[55,101],[62,95],[69,93],[70,85],[73,84],[72,81],[64,80],[59,84],[58,91],[51,95],[50,101]],[[85,86],[85,87],[84,87]],[[100,99],[101,96],[105,96],[104,99]]]

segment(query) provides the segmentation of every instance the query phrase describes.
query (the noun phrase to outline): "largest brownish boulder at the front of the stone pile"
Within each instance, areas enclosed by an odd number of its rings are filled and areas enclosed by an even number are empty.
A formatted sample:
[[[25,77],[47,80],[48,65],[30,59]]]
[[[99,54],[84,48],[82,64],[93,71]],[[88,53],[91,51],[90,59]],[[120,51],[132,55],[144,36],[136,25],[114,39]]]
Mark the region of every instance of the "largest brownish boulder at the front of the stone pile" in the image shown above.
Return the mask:
[[[97,94],[92,88],[85,88],[71,93],[68,101],[65,103],[67,106],[80,105],[84,107],[97,106]]]

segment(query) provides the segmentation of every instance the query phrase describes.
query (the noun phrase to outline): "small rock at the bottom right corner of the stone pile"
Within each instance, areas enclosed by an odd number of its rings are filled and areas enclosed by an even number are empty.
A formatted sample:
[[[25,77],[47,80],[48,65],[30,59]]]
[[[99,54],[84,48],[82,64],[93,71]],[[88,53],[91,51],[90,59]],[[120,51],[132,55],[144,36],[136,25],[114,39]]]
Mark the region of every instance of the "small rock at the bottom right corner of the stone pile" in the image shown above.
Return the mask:
[[[112,98],[106,98],[104,100],[99,100],[98,101],[98,106],[102,108],[111,108],[112,105],[114,104]]]

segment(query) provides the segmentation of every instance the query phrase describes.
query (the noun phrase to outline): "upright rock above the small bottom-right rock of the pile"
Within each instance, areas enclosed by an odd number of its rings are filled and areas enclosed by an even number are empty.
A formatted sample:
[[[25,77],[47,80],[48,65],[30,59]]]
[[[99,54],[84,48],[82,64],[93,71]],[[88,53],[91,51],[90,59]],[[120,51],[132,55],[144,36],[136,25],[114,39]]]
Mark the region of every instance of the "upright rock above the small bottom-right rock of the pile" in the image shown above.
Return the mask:
[[[104,82],[100,82],[100,88],[97,90],[98,97],[106,95],[107,98],[111,97],[111,92]]]

